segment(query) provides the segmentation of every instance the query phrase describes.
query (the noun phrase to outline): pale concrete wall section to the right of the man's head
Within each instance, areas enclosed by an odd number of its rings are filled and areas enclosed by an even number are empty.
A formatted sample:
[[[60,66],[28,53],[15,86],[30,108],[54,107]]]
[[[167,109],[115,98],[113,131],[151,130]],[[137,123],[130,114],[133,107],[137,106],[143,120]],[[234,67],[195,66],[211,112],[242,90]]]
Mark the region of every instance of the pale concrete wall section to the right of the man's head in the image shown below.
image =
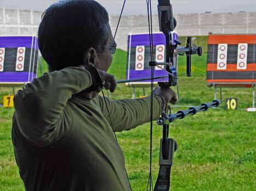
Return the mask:
[[[207,13],[207,14],[178,14],[175,32],[180,36],[200,36],[215,34],[248,34],[256,33],[256,12],[251,13]],[[118,17],[110,17],[112,31],[116,29]],[[146,33],[147,16],[131,15],[122,17],[117,32],[117,45],[123,50],[127,49],[128,33]],[[158,15],[152,17],[153,32],[159,32]]]

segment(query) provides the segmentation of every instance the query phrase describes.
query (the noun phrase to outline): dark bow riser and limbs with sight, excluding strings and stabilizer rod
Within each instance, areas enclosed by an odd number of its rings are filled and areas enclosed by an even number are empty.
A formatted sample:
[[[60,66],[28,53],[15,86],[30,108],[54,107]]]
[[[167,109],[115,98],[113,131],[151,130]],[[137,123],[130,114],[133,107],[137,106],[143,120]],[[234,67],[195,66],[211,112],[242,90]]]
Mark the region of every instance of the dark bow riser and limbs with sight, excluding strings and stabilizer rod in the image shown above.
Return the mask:
[[[169,80],[167,82],[158,82],[158,85],[160,87],[176,86],[178,84],[178,74],[174,63],[178,54],[186,53],[186,74],[187,76],[191,76],[191,55],[197,53],[201,56],[202,48],[198,47],[197,50],[192,49],[191,37],[187,38],[186,47],[178,47],[181,43],[178,38],[175,39],[176,36],[173,38],[172,35],[172,31],[177,25],[177,21],[173,17],[172,5],[169,0],[158,0],[158,19],[160,31],[162,31],[166,37],[166,63],[168,63],[166,65],[166,70],[169,74]],[[155,65],[160,64],[155,63]],[[172,115],[166,115],[166,112],[163,111],[162,117],[158,119],[158,121],[164,122],[162,123],[163,135],[160,141],[160,170],[153,189],[154,191],[167,191],[170,188],[170,170],[173,165],[174,152],[177,149],[177,142],[172,138],[168,138],[170,117],[172,117]]]

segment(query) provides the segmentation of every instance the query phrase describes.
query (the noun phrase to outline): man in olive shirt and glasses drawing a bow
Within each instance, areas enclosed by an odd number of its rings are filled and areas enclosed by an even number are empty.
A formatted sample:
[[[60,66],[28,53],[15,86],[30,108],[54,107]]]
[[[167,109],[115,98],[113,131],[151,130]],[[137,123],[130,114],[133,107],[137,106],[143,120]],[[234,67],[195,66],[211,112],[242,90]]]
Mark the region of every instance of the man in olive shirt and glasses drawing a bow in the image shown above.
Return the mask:
[[[106,10],[91,0],[53,4],[38,43],[49,73],[14,98],[13,145],[26,190],[130,190],[113,131],[149,122],[150,97],[105,103],[98,95],[116,88],[106,73],[116,49]],[[154,120],[168,102],[176,102],[172,89],[156,88]]]

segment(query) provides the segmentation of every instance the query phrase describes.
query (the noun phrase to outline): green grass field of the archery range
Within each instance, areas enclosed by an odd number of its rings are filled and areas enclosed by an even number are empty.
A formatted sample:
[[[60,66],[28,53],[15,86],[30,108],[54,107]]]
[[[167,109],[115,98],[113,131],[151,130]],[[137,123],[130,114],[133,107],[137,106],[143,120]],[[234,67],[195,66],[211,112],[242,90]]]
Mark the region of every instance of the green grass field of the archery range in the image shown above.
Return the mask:
[[[125,79],[126,52],[117,50],[109,73]],[[192,77],[185,77],[185,58],[179,58],[179,105],[211,102],[214,89],[206,86],[206,54],[192,57]],[[43,70],[46,65],[43,62]],[[176,88],[174,87],[174,90]],[[0,97],[12,93],[1,88]],[[146,89],[149,94],[149,89]],[[136,88],[136,97],[143,94]],[[110,95],[113,99],[131,98],[132,89],[121,84]],[[218,94],[219,97],[219,94]],[[252,88],[225,88],[223,98],[238,99],[238,109],[200,112],[171,124],[170,137],[178,142],[171,174],[171,190],[256,190],[256,114],[244,108],[252,106]],[[2,100],[0,101],[2,104]],[[186,108],[173,108],[173,112]],[[11,126],[14,109],[0,108],[0,190],[24,190],[15,164]],[[126,156],[133,190],[146,190],[149,176],[149,123],[129,132],[117,133]],[[152,174],[158,174],[158,153],[162,128],[153,124]]]

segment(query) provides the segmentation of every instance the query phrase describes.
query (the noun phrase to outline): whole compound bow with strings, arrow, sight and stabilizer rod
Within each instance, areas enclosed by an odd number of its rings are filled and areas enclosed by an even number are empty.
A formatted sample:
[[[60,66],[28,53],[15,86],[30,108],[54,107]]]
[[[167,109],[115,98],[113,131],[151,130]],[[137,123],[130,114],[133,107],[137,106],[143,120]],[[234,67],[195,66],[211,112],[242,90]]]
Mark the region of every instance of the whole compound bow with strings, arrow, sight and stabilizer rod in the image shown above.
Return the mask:
[[[122,11],[120,14],[120,18],[118,20],[117,28],[120,23],[120,19],[122,16],[124,4],[126,0],[124,0]],[[147,183],[147,189],[154,191],[164,191],[169,190],[170,188],[170,170],[173,165],[173,158],[174,152],[177,149],[177,142],[172,139],[168,138],[169,134],[169,123],[173,122],[175,119],[181,119],[188,115],[195,115],[199,111],[206,111],[209,108],[217,107],[220,103],[218,100],[214,100],[211,103],[202,104],[197,107],[191,107],[188,110],[178,111],[176,114],[166,114],[166,111],[162,111],[162,116],[158,118],[157,123],[163,126],[163,135],[160,141],[160,170],[157,176],[157,181],[155,187],[152,186],[152,174],[151,174],[151,156],[152,156],[152,116],[153,116],[153,79],[157,77],[153,77],[153,68],[160,67],[160,65],[165,65],[165,70],[168,73],[168,81],[166,82],[158,82],[160,87],[170,87],[176,86],[178,84],[178,74],[177,70],[174,67],[174,63],[177,59],[178,55],[186,55],[186,75],[191,76],[191,55],[197,54],[198,56],[202,55],[202,48],[198,47],[197,49],[192,48],[192,40],[191,37],[187,37],[186,46],[185,47],[178,47],[181,45],[180,41],[178,40],[177,36],[172,35],[174,28],[177,25],[177,21],[173,17],[173,10],[172,4],[170,4],[169,0],[158,0],[158,20],[160,31],[166,37],[166,62],[164,63],[157,63],[153,61],[153,38],[152,38],[152,14],[151,14],[151,0],[147,0],[147,15],[148,15],[148,22],[149,22],[149,37],[150,37],[150,52],[151,52],[151,61],[149,65],[151,66],[151,123],[150,123],[150,173],[149,173],[149,180]],[[116,28],[116,32],[117,32]],[[116,32],[114,38],[116,36]],[[181,54],[183,53],[183,54]],[[158,77],[159,78],[159,77]],[[129,80],[132,81],[139,81],[145,79],[136,79],[136,80]],[[117,83],[124,83],[128,82],[127,80],[117,81]],[[170,111],[170,109],[169,109]]]

